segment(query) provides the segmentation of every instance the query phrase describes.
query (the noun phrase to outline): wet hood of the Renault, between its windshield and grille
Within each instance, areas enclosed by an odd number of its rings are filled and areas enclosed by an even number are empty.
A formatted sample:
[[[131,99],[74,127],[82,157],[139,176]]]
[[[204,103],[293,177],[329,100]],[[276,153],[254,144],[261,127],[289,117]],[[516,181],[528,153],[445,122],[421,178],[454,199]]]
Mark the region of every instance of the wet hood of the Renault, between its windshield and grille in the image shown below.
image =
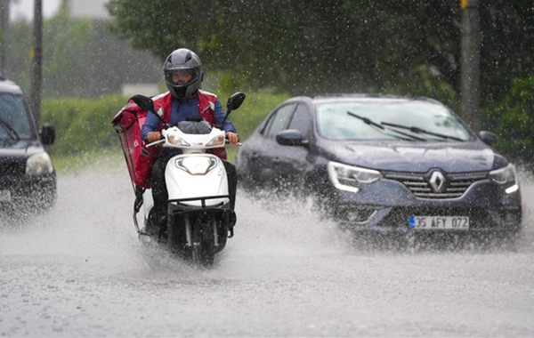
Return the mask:
[[[347,142],[337,145],[335,160],[378,170],[426,172],[441,168],[449,173],[486,171],[506,162],[481,141],[467,142]],[[499,165],[500,166],[500,165]]]

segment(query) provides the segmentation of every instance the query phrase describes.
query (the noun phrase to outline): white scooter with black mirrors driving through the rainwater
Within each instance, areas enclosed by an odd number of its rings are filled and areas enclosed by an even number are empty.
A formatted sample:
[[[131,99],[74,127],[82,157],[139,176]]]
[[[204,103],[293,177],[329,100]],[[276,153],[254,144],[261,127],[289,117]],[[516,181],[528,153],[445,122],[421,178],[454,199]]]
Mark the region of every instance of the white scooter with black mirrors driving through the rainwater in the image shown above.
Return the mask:
[[[158,115],[149,97],[135,95],[132,100],[142,109]],[[244,100],[244,93],[231,95],[226,117]],[[223,147],[225,133],[206,121],[183,121],[163,130],[162,136],[161,141],[152,142],[147,147],[163,143],[163,147],[182,149],[182,154],[171,157],[166,165],[166,229],[160,229],[158,233],[144,230],[150,228],[150,222],[156,221],[150,191],[143,194],[142,201],[145,227],[139,229],[134,214],[135,227],[142,240],[153,238],[166,242],[173,253],[193,264],[209,267],[214,263],[214,255],[223,250],[227,238],[233,237],[236,221],[223,161],[206,151]]]

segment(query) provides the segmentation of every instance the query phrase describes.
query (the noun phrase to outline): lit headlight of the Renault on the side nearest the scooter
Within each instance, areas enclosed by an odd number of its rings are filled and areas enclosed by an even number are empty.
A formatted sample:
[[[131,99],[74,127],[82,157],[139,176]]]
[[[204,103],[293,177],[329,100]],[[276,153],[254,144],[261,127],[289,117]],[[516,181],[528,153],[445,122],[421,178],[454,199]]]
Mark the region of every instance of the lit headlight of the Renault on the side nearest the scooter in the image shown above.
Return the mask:
[[[328,176],[337,189],[358,192],[362,183],[369,184],[378,181],[382,178],[382,173],[357,166],[328,162]]]

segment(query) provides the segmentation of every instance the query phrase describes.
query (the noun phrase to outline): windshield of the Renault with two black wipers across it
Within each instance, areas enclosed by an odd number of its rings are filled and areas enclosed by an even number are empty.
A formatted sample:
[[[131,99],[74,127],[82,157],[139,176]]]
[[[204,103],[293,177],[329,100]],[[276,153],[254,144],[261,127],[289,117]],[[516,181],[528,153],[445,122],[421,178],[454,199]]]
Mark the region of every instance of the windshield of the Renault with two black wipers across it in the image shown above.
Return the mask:
[[[449,109],[428,101],[325,101],[317,105],[317,121],[320,135],[331,140],[446,140],[439,134],[467,141],[471,137]],[[417,133],[418,129],[429,133]]]

